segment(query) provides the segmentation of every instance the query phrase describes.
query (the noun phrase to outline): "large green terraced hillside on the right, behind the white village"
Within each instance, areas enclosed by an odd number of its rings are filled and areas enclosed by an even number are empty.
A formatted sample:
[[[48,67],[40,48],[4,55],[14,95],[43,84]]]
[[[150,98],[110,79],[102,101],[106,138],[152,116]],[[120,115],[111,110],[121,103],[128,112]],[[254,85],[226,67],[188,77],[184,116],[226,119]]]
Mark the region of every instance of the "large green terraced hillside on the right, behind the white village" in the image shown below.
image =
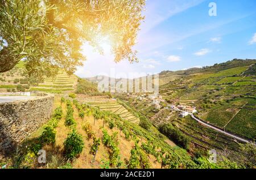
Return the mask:
[[[241,158],[236,140],[200,125],[190,116],[181,118],[180,112],[168,107],[180,104],[195,107],[196,116],[210,125],[255,141],[255,63],[255,60],[234,59],[203,68],[161,72],[160,80],[169,82],[159,87],[164,101],[160,102],[160,109],[147,96],[144,100],[138,99],[140,95],[118,97],[146,115],[154,126],[172,123],[191,137],[195,147],[214,148],[220,154],[228,152],[236,160]]]

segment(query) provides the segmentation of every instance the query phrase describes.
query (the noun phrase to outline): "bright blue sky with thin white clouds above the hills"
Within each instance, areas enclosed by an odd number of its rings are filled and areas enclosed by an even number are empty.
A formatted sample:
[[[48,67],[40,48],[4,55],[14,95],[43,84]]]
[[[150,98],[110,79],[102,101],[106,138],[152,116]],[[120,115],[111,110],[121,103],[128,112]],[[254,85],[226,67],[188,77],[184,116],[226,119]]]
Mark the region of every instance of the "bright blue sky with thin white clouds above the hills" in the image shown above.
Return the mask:
[[[216,3],[217,16],[209,16],[210,2]],[[114,63],[110,52],[100,55],[85,45],[88,60],[76,74],[127,77],[137,72],[133,76],[141,76],[233,58],[256,59],[255,0],[148,0],[143,14],[146,18],[134,47],[139,63]]]

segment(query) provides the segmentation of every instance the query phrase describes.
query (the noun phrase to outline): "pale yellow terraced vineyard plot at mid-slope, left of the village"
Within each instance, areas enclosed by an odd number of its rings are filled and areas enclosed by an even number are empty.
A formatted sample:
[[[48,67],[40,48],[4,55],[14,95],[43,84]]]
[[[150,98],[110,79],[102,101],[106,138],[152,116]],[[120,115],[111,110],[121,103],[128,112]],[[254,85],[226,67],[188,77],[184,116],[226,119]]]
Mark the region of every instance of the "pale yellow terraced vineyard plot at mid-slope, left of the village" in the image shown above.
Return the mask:
[[[125,109],[125,107],[118,104],[117,102],[112,102],[109,104],[92,104],[92,105],[97,106],[101,110],[106,110],[106,111],[113,112],[114,114],[118,114],[122,119],[125,119],[126,121],[129,121],[135,124],[139,123],[139,119],[137,117],[134,117],[133,114],[128,112],[128,110]]]

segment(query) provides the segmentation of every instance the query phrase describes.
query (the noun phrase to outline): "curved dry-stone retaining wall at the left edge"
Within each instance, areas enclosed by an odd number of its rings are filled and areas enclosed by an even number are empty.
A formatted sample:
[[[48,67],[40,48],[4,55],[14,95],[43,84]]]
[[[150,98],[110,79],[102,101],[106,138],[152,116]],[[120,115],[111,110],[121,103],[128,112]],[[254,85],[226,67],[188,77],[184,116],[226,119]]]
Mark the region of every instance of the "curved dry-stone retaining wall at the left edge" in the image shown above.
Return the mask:
[[[0,104],[0,158],[12,152],[52,114],[53,95]]]

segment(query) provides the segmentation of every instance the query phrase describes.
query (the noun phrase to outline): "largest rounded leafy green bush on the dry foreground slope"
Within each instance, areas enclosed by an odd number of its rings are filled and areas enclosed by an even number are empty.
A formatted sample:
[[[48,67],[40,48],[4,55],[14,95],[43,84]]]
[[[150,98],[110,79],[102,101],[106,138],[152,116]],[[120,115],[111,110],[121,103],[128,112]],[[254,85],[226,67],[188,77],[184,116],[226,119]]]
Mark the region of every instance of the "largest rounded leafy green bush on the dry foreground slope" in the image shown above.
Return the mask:
[[[82,152],[84,148],[84,142],[82,135],[72,130],[64,141],[64,154],[67,158],[73,159]]]

